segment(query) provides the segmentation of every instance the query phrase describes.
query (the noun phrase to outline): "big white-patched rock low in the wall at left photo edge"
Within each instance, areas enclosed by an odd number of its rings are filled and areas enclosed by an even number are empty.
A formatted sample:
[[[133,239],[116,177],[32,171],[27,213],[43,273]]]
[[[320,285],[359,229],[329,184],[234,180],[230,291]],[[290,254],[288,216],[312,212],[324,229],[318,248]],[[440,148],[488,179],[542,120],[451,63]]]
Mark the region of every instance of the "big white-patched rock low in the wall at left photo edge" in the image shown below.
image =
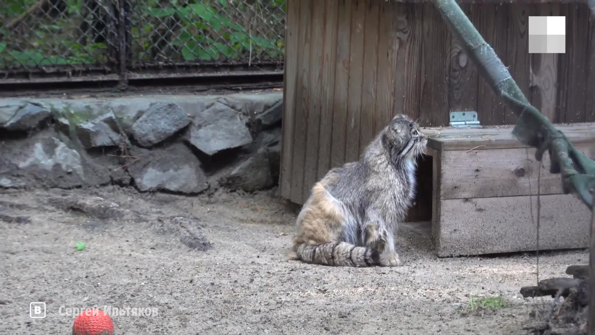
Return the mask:
[[[73,188],[110,181],[107,168],[93,165],[51,130],[4,141],[0,152],[2,187]]]

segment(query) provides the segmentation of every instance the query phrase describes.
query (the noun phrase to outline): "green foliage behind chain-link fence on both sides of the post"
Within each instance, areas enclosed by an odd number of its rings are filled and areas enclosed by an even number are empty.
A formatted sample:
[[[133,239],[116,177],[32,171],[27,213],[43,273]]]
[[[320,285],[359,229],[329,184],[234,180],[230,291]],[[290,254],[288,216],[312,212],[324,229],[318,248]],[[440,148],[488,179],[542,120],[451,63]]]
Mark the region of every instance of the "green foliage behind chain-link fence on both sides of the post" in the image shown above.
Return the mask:
[[[37,0],[7,0],[0,7],[0,21],[14,20]],[[90,14],[83,0],[66,0],[57,17],[30,14],[13,29],[0,28],[0,68],[107,62],[107,45],[80,40],[80,23]],[[161,4],[167,4],[161,7]],[[181,3],[184,5],[181,5]],[[131,48],[133,62],[248,62],[283,57],[286,0],[257,0],[253,5],[230,0],[158,0],[131,2]],[[168,41],[153,46],[162,36],[165,22],[176,24]],[[158,32],[158,33],[155,33]],[[156,35],[157,34],[157,35]]]

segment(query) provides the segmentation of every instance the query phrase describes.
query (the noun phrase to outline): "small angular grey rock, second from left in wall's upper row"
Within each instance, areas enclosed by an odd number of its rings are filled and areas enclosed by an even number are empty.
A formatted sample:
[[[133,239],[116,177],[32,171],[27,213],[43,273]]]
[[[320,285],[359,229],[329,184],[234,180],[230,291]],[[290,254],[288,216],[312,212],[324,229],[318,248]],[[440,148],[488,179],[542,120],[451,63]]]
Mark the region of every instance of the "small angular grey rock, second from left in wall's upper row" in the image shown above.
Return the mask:
[[[84,148],[110,147],[120,144],[120,134],[114,113],[76,126],[76,136]]]

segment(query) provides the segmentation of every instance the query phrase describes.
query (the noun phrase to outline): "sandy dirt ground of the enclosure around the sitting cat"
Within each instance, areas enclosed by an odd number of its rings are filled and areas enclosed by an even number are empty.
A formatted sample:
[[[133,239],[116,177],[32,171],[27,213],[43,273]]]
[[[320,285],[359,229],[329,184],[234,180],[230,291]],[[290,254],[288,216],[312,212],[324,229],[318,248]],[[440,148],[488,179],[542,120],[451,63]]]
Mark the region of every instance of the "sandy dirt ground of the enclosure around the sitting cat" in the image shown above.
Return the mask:
[[[399,237],[396,268],[290,261],[297,213],[274,192],[2,190],[0,333],[70,334],[64,308],[110,306],[156,310],[112,315],[117,334],[524,334],[552,300],[519,298],[536,282],[533,253],[439,259]],[[540,278],[586,262],[585,250],[545,253]],[[472,294],[508,306],[469,313]],[[46,317],[30,318],[30,302]]]

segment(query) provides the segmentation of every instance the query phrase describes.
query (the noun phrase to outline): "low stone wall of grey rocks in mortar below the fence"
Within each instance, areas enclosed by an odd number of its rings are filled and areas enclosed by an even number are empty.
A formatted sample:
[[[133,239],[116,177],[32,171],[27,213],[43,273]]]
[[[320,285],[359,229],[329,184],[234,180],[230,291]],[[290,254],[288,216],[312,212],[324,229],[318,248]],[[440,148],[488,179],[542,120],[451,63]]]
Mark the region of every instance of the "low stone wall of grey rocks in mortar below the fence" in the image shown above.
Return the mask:
[[[198,194],[278,181],[281,92],[0,102],[0,188]]]

